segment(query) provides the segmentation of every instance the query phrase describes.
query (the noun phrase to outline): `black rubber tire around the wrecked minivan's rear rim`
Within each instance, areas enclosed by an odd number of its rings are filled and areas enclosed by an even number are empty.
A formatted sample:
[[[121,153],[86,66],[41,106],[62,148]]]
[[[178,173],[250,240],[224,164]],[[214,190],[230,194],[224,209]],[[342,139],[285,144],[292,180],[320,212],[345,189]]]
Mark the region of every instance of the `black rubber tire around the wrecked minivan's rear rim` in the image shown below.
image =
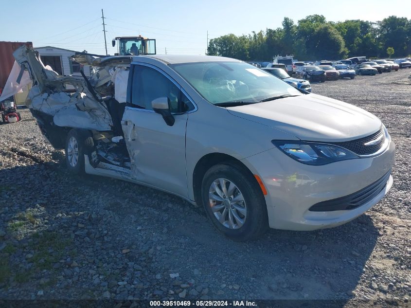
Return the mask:
[[[78,159],[76,163],[69,161],[68,147],[71,138],[74,138],[77,149]],[[84,129],[73,128],[69,131],[66,138],[65,152],[66,152],[66,165],[72,174],[83,174],[84,169],[84,155],[89,155],[93,151],[94,141],[90,131]]]

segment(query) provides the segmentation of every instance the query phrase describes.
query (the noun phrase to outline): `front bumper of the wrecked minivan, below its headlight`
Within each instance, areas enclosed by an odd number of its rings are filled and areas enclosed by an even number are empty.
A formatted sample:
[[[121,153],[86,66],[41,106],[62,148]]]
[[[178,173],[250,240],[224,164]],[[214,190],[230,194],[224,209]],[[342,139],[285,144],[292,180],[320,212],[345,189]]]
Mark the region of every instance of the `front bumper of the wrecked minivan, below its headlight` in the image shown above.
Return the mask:
[[[357,218],[390,190],[392,176],[372,199],[351,210],[310,211],[320,202],[343,198],[381,179],[392,168],[395,145],[372,158],[360,158],[322,166],[299,163],[277,148],[243,160],[260,176],[267,189],[269,226],[275,229],[309,231],[336,227]]]

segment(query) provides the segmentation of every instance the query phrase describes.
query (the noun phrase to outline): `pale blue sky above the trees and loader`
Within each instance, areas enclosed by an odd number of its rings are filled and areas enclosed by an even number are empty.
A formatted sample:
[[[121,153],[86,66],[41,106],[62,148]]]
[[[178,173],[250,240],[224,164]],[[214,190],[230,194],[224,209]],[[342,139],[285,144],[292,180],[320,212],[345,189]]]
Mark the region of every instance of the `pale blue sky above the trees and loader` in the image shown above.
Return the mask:
[[[410,6],[405,3],[403,0],[3,1],[0,41],[32,41],[35,47],[86,49],[89,53],[105,54],[103,9],[109,54],[115,52],[112,38],[139,34],[157,39],[158,54],[164,54],[165,49],[168,54],[204,54],[207,31],[209,38],[229,33],[250,34],[280,27],[284,17],[297,22],[311,14],[322,14],[329,21],[377,21],[390,15],[411,18]]]

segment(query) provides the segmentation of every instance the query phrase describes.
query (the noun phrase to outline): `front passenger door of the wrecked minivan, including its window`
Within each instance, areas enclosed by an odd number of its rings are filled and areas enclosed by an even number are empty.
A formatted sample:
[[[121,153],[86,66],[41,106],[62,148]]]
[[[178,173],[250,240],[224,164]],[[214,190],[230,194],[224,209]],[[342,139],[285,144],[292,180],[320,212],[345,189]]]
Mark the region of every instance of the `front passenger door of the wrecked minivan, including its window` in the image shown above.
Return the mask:
[[[185,134],[194,105],[177,82],[155,66],[133,64],[130,74],[122,127],[132,178],[187,197]],[[151,107],[154,99],[164,96],[175,118],[173,126]]]

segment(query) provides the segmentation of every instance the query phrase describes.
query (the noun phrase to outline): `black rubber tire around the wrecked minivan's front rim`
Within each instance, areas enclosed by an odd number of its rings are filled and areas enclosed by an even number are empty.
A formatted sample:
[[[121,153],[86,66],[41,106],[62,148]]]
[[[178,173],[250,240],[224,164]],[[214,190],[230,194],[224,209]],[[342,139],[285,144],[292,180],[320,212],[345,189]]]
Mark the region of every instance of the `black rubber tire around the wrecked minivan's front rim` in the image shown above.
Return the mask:
[[[214,216],[210,206],[209,190],[212,183],[219,179],[227,179],[234,183],[244,197],[247,217],[238,229],[230,229],[220,223]],[[201,184],[201,198],[207,216],[215,229],[235,241],[247,241],[263,235],[268,230],[267,205],[260,185],[245,168],[233,164],[217,164],[204,175]]]

